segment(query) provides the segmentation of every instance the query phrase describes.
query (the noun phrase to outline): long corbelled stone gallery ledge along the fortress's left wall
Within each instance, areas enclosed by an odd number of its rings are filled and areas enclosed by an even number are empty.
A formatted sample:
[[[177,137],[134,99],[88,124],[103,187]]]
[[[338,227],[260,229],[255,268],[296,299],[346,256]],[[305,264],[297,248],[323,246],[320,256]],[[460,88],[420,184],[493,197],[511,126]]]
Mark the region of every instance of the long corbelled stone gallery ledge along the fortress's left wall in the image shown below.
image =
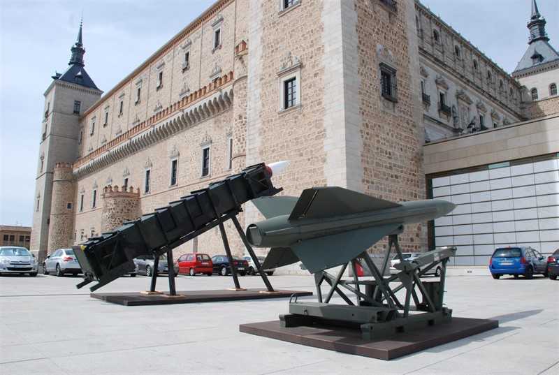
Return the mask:
[[[183,101],[186,101],[186,99],[184,98]],[[166,108],[166,110],[152,116],[157,120],[142,122],[106,143],[103,147],[99,147],[91,154],[78,159],[73,164],[73,174],[75,177],[82,177],[104,168],[115,163],[115,161],[138,152],[140,149],[145,149],[154,143],[165,140],[185,128],[225,112],[231,108],[232,103],[233,85],[228,84],[226,87],[212,91],[211,94],[200,101],[184,106],[182,109],[169,112],[169,108]]]

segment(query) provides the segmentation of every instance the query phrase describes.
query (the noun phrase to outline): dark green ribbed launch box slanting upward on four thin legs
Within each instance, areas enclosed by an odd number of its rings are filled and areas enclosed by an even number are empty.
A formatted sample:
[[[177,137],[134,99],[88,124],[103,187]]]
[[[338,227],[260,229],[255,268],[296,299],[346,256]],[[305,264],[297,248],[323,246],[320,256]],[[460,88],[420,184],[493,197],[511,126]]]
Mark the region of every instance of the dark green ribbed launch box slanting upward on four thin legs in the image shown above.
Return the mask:
[[[264,163],[249,166],[238,175],[213,182],[205,189],[193,191],[191,195],[169,203],[167,207],[156,209],[140,219],[127,221],[111,232],[89,238],[84,244],[73,247],[85,275],[84,281],[77,287],[82,288],[92,281],[98,281],[98,284],[89,288],[95,291],[132,272],[135,269],[133,258],[153,254],[156,264],[151,289],[154,291],[159,256],[167,253],[170,295],[175,295],[172,250],[219,226],[235,288],[240,288],[223,223],[228,219],[233,221],[247,251],[261,271],[259,260],[247,242],[236,216],[242,211],[241,205],[249,200],[273,196],[282,191],[273,186],[271,175],[270,168]],[[260,274],[268,291],[273,291],[266,272]]]

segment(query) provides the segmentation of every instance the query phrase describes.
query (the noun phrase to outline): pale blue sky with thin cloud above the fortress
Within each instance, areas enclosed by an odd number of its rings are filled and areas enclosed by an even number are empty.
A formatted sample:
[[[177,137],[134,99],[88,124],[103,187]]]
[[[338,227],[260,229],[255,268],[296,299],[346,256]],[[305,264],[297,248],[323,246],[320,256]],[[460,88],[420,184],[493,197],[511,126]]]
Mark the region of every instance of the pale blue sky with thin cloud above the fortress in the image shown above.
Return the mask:
[[[0,225],[31,225],[43,94],[67,68],[80,16],[85,68],[109,91],[213,2],[0,0]],[[509,73],[525,52],[530,0],[422,2]],[[559,1],[538,6],[557,49]]]

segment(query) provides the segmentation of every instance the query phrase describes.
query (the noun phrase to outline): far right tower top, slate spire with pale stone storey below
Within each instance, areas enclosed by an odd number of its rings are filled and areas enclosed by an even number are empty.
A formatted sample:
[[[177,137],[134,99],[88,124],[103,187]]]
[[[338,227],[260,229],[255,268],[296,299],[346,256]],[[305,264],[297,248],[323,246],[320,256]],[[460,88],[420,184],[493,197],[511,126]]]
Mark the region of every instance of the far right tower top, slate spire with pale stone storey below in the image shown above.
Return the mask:
[[[546,20],[539,13],[536,0],[532,0],[532,13],[526,25],[530,31],[528,50],[512,76],[525,87],[523,101],[542,101],[557,96],[559,84],[559,53],[549,43]]]

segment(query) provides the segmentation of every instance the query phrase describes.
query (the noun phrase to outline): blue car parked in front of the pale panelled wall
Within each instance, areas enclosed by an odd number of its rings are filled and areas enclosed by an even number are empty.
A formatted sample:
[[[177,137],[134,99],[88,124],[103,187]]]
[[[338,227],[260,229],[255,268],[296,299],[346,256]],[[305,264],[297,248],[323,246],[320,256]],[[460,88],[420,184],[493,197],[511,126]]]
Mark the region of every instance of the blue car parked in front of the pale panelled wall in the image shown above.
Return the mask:
[[[489,271],[493,279],[499,279],[504,274],[511,274],[515,279],[519,275],[532,279],[534,274],[547,277],[546,266],[546,258],[531,247],[502,247],[496,249],[491,256]]]

